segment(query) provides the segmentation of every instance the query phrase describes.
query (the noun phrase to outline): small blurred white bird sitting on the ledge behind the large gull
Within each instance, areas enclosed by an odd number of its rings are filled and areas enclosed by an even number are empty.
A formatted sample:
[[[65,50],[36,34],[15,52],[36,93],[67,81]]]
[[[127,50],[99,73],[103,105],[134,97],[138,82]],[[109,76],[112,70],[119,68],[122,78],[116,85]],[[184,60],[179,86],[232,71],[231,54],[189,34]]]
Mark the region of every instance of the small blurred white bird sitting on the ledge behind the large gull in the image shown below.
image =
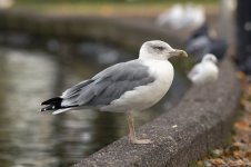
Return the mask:
[[[188,78],[195,85],[204,85],[214,82],[219,76],[217,67],[217,57],[212,53],[207,53],[200,63],[197,63],[189,72]]]

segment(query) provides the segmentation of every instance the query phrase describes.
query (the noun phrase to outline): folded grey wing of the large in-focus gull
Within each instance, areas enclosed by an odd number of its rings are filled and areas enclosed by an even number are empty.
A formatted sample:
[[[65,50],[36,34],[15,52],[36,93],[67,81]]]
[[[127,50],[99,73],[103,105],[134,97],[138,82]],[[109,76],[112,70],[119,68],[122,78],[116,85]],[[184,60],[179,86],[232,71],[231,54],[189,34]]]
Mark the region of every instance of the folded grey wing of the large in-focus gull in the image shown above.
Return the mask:
[[[118,63],[64,91],[62,106],[106,106],[126,91],[153,81],[139,59]]]

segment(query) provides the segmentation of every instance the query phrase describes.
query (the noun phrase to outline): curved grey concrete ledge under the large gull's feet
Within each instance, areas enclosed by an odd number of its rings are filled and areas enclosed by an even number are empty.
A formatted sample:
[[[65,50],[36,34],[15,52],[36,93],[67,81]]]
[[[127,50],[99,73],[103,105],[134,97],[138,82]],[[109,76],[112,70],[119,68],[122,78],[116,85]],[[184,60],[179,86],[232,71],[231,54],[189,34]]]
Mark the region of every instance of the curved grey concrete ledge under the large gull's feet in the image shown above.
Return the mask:
[[[74,166],[188,166],[230,135],[241,92],[234,73],[224,60],[215,84],[191,87],[175,108],[142,126],[137,135],[153,144],[131,145],[123,137]]]

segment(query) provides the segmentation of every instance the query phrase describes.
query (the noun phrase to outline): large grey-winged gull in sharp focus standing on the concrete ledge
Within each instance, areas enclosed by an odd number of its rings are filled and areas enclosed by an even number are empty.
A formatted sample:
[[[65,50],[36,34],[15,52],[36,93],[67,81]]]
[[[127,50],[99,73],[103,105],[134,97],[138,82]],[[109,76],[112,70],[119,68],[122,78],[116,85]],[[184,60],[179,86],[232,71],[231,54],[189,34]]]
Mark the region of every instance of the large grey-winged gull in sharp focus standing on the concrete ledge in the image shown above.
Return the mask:
[[[61,96],[43,101],[41,111],[60,114],[68,110],[96,108],[100,111],[126,112],[129,141],[150,144],[150,139],[137,139],[133,111],[142,111],[155,105],[169,90],[173,80],[171,57],[188,57],[160,40],[141,46],[139,58],[113,65],[90,79],[67,89]]]

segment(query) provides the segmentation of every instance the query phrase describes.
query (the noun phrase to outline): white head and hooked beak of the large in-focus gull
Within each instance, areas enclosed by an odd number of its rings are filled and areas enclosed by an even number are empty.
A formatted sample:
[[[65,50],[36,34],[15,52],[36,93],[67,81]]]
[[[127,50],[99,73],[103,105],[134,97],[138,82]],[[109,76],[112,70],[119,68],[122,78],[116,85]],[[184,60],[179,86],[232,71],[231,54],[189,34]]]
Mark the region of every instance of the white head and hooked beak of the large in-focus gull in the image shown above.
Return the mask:
[[[147,41],[140,48],[140,59],[168,60],[171,57],[188,57],[183,50],[173,49],[161,40]]]

